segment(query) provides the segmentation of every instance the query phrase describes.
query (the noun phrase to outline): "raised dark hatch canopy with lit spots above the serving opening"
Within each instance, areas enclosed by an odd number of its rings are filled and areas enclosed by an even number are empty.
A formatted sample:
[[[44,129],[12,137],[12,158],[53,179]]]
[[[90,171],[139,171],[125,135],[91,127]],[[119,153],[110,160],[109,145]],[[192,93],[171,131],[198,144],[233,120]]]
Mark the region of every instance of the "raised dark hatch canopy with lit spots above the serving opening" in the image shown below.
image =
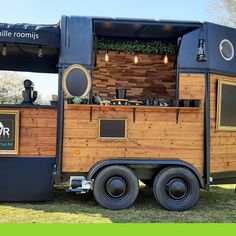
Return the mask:
[[[201,22],[94,18],[98,37],[173,40],[202,27]]]

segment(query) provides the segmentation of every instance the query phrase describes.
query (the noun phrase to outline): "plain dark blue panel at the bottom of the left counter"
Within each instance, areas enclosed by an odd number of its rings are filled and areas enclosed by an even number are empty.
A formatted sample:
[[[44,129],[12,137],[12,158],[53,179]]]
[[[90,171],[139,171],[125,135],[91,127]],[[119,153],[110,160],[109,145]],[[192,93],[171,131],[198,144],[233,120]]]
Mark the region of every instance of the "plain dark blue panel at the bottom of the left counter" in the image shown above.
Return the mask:
[[[53,199],[55,158],[0,158],[0,201]]]

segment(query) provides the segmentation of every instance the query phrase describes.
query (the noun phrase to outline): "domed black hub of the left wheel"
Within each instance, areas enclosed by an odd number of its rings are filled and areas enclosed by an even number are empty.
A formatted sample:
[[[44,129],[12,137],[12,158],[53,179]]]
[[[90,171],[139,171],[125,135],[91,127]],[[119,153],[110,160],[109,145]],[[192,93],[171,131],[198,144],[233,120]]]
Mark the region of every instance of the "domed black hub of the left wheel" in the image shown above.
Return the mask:
[[[126,192],[126,182],[120,177],[112,177],[106,183],[106,192],[114,198],[122,197]]]

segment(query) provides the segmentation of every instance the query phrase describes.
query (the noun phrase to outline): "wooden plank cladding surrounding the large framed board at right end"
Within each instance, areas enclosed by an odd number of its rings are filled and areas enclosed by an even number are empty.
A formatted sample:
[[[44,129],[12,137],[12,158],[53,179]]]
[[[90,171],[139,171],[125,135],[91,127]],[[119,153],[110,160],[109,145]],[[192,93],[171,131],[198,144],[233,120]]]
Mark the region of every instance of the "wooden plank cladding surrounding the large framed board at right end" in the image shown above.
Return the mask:
[[[217,131],[217,82],[218,79],[236,81],[236,77],[211,74],[211,173],[236,170],[236,132]]]

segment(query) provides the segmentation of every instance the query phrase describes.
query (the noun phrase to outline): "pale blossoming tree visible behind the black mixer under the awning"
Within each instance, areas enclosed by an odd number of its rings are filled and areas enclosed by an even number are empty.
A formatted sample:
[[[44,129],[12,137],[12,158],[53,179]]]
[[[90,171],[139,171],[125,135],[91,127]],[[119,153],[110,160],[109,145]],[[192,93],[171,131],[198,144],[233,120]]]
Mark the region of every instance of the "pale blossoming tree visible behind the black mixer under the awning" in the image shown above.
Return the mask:
[[[16,72],[0,72],[0,104],[20,104],[23,101],[23,82],[28,79]],[[38,104],[49,104],[38,94]]]

